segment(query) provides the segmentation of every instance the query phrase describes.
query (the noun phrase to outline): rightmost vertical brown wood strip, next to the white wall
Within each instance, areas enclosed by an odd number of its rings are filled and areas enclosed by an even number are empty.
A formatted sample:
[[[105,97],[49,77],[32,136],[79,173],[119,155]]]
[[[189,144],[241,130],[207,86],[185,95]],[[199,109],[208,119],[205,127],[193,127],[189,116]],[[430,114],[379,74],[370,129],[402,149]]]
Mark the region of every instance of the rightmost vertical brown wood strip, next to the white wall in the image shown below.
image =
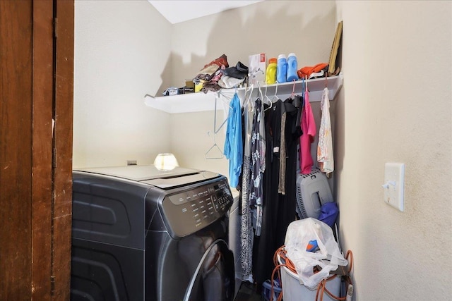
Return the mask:
[[[71,287],[74,3],[57,0],[54,131],[54,247],[52,300],[69,300]]]

